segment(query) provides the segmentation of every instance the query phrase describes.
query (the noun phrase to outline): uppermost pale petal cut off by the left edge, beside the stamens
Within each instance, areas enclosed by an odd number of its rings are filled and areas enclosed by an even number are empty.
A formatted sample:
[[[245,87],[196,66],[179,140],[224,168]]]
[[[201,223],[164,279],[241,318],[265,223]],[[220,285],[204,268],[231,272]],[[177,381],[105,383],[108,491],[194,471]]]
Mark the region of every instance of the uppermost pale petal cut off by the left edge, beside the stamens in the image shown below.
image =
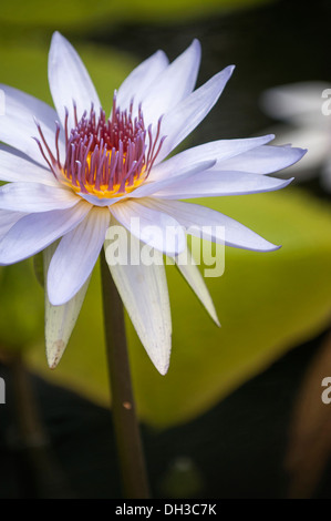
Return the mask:
[[[46,165],[33,136],[39,136],[35,120],[41,124],[44,139],[53,152],[55,151],[55,121],[59,119],[54,109],[46,103],[21,92],[12,86],[0,84],[4,93],[4,114],[0,116],[0,141],[29,155],[32,160]],[[35,120],[34,120],[35,119]],[[60,159],[64,159],[63,133],[60,134]]]

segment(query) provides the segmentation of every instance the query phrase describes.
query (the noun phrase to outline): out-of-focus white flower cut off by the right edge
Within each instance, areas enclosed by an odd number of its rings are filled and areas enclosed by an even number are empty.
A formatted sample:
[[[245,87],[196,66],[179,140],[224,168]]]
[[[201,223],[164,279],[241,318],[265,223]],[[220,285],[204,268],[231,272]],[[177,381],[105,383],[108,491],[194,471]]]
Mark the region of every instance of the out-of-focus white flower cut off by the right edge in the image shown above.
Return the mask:
[[[331,191],[331,84],[303,81],[275,86],[263,92],[263,111],[285,123],[272,129],[275,143],[299,143],[309,150],[300,163],[289,168],[296,181],[320,175],[321,185]]]

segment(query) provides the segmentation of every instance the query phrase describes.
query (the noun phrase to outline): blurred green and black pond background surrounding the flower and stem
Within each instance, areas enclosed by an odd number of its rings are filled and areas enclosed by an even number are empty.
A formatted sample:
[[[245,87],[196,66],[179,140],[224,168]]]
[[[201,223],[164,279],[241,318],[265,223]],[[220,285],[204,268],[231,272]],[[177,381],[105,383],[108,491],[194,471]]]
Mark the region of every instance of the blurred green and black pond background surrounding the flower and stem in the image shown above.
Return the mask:
[[[0,82],[51,103],[46,60],[59,30],[110,109],[133,67],[157,49],[173,60],[198,38],[198,84],[237,68],[185,144],[262,135],[276,124],[260,102],[266,89],[331,81],[330,16],[327,0],[11,0],[0,9]],[[226,248],[225,274],[207,279],[221,329],[168,267],[165,377],[127,320],[154,497],[331,498],[331,405],[321,401],[331,376],[331,210],[319,168],[281,192],[201,200],[282,248]],[[54,371],[33,260],[0,269],[0,497],[118,498],[99,269]]]

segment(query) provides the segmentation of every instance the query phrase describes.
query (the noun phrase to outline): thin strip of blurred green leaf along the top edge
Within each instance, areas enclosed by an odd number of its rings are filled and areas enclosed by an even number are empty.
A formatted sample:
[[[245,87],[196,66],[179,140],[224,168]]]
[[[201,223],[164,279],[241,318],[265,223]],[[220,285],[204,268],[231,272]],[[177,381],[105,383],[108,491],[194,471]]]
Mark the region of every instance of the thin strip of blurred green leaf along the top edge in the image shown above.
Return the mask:
[[[81,31],[106,23],[187,20],[263,2],[266,0],[95,0],[93,3],[90,0],[11,0],[1,4],[0,23]]]

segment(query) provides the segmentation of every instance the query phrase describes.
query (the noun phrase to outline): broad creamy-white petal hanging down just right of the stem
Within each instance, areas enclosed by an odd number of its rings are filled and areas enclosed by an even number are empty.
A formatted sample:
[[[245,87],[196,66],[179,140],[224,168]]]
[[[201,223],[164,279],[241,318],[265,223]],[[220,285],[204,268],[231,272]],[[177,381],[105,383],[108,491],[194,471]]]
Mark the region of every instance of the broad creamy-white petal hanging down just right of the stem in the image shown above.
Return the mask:
[[[133,258],[139,258],[144,245],[127,233],[118,234],[120,258],[115,263],[110,244],[106,239],[106,259],[123,304],[151,360],[165,375],[172,349],[172,318],[162,253],[154,251],[155,263],[149,266],[142,262],[127,264],[127,247]]]

